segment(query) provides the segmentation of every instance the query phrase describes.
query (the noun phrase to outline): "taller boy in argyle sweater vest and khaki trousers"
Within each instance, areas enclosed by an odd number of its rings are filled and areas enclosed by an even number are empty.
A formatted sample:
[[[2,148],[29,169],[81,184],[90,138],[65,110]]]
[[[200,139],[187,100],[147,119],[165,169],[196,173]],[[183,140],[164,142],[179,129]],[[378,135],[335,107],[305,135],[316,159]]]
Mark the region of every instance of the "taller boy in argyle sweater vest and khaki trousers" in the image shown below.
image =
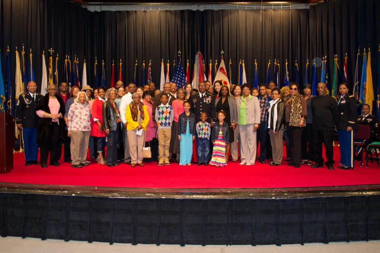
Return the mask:
[[[158,165],[170,165],[169,145],[171,137],[171,125],[173,122],[173,107],[168,103],[168,96],[161,95],[161,105],[156,108],[157,137],[158,137]]]

